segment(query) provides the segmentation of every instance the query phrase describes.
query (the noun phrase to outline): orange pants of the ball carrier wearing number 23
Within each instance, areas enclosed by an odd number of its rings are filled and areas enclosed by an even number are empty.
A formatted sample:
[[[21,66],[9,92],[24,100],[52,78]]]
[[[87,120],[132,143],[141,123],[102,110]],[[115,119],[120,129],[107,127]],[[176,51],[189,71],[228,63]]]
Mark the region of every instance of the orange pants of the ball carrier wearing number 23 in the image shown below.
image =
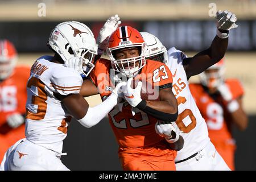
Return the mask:
[[[177,152],[165,140],[146,147],[119,147],[118,155],[125,171],[176,171]]]

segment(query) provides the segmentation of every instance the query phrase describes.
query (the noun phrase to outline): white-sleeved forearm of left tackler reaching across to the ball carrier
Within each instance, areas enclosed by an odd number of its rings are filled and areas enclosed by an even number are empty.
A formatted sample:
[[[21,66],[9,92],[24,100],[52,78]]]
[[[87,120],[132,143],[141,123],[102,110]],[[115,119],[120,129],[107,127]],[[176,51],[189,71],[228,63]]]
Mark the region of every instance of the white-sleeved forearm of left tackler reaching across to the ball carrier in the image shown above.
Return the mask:
[[[99,123],[115,105],[117,105],[117,96],[111,94],[101,104],[94,107],[88,107],[85,116],[77,121],[79,121],[82,126],[88,128],[97,125],[97,123]]]

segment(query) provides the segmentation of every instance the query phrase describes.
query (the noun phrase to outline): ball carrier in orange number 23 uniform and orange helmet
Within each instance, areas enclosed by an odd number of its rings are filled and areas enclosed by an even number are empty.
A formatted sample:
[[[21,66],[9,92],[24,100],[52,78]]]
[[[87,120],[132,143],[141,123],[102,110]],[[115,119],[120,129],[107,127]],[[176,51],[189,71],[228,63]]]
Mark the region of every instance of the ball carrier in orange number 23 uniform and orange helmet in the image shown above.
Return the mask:
[[[100,93],[105,100],[117,82],[129,78],[122,90],[125,100],[109,112],[122,167],[124,170],[175,170],[176,150],[183,147],[183,138],[170,123],[177,118],[172,74],[163,63],[146,60],[144,51],[145,42],[137,30],[119,27],[108,39],[111,61],[97,61],[90,73],[95,86],[85,80],[86,87],[82,86],[80,93],[83,96]],[[158,89],[152,91],[152,86]],[[147,101],[141,98],[142,88]]]

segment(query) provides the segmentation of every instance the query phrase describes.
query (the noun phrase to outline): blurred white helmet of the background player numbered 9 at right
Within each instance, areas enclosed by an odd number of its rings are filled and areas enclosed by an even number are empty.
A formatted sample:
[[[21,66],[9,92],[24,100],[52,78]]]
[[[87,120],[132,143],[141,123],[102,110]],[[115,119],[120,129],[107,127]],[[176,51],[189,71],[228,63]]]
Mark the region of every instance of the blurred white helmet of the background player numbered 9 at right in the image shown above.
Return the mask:
[[[216,71],[214,71],[216,70]],[[212,72],[209,72],[212,71]],[[201,73],[200,81],[201,84],[208,88],[217,88],[222,82],[224,82],[225,64],[224,59],[218,61],[218,63],[212,65]]]

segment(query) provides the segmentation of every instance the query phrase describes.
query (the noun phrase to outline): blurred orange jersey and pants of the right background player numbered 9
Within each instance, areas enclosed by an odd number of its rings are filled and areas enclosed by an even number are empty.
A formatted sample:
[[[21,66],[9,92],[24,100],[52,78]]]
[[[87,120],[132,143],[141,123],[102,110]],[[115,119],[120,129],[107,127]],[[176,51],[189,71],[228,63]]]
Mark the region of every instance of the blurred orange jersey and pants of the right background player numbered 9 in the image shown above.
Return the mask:
[[[238,80],[228,79],[225,83],[228,85],[233,99],[243,95],[243,88]],[[210,140],[229,168],[234,170],[236,144],[232,137],[232,120],[226,110],[225,101],[220,95],[210,96],[201,84],[189,84],[189,88],[196,105],[207,122]]]

